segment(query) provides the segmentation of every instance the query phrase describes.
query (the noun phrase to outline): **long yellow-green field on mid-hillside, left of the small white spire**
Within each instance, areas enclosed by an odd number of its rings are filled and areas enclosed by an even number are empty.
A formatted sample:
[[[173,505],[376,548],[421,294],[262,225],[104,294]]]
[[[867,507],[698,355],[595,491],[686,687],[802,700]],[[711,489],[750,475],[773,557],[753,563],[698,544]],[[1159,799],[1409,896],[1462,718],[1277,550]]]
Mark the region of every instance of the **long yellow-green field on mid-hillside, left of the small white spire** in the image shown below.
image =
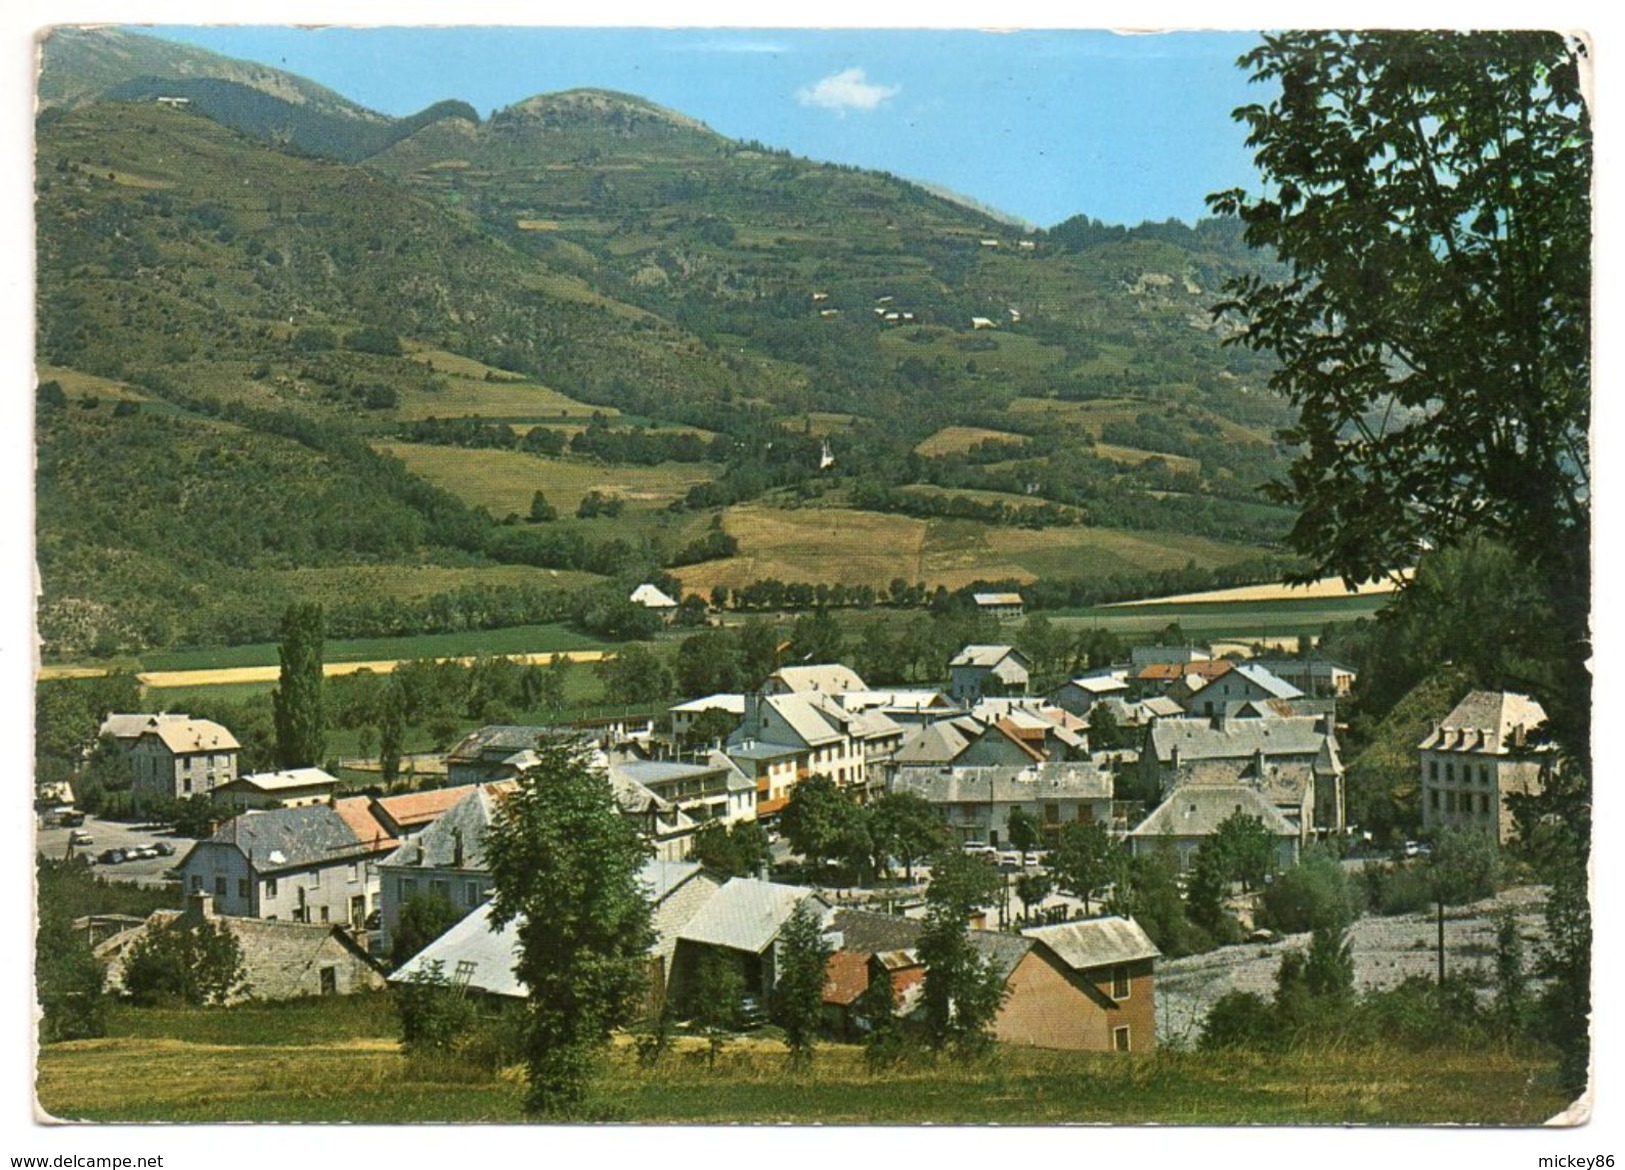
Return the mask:
[[[601,466],[585,460],[427,444],[377,444],[377,448],[396,457],[434,486],[457,492],[468,504],[489,509],[499,518],[509,512],[526,515],[531,496],[538,491],[546,494],[561,515],[574,515],[575,505],[590,491],[619,496],[629,504],[658,507],[687,494],[694,484],[708,483],[718,471],[712,463]]]

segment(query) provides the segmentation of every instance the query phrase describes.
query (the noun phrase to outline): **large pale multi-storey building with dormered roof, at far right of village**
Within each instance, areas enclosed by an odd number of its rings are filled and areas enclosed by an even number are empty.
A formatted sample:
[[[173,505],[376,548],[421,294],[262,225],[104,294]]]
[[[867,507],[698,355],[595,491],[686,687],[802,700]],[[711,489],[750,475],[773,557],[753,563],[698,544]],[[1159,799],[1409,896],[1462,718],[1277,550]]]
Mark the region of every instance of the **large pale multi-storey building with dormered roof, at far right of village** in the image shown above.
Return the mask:
[[[1474,691],[1417,744],[1422,827],[1446,826],[1516,834],[1511,795],[1545,790],[1554,748],[1531,733],[1545,725],[1545,708],[1529,696]]]

